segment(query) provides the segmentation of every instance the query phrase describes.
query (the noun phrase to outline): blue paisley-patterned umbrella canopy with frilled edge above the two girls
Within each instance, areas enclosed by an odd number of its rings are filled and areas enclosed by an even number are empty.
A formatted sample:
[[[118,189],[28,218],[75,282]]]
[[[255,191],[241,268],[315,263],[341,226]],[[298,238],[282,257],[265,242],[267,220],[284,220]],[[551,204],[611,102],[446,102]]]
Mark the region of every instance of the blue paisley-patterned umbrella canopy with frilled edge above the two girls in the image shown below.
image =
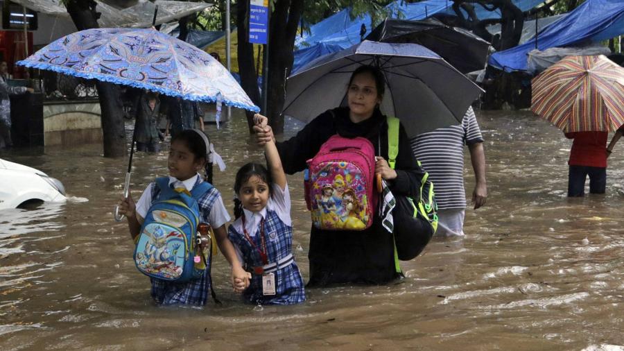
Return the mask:
[[[258,112],[211,55],[153,29],[94,28],[45,46],[18,65]]]

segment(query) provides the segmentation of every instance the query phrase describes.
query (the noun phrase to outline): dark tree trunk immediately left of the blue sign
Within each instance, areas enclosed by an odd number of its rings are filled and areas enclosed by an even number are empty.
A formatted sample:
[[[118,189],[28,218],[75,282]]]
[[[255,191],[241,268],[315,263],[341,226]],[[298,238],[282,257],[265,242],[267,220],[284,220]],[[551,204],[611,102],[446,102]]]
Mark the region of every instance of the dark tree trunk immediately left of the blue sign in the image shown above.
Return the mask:
[[[244,2],[239,2],[236,6],[236,26],[239,28],[237,38],[239,44],[236,52],[239,55],[239,74],[241,75],[241,86],[248,94],[249,98],[256,105],[260,104],[260,92],[258,89],[258,74],[254,67],[254,47],[248,40],[249,33],[249,7]],[[249,132],[252,132],[253,112],[246,111]]]

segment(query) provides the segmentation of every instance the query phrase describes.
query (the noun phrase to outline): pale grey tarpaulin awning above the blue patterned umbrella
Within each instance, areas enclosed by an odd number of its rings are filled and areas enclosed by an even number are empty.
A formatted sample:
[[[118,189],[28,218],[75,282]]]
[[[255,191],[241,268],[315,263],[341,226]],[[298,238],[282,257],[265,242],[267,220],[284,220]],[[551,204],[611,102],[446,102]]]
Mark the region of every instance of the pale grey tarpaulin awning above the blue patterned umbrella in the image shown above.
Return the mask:
[[[95,1],[98,4],[96,11],[102,14],[98,19],[98,24],[102,28],[149,28],[152,26],[152,17],[156,6],[158,6],[158,13],[155,24],[170,22],[173,19],[178,19],[212,6],[211,3],[139,0],[134,6],[118,9],[110,6],[106,1]],[[13,0],[13,2],[46,15],[67,17],[69,19],[67,8],[62,5],[60,0]]]

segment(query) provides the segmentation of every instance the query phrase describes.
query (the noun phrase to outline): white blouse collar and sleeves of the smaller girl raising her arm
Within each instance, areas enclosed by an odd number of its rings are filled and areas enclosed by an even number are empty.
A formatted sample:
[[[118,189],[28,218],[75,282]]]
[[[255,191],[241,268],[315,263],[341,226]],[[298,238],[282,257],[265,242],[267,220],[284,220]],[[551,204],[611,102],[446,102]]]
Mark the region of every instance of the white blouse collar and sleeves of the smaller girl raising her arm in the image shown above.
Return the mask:
[[[284,224],[288,225],[288,227],[293,225],[293,221],[291,220],[291,195],[288,192],[288,185],[286,185],[284,189],[281,189],[279,185],[273,184],[273,194],[268,199],[266,207],[259,212],[251,212],[243,208],[243,213],[245,214],[245,230],[247,230],[250,237],[256,236],[260,221],[266,218],[267,209],[275,211],[279,219],[281,219]],[[243,220],[241,218],[236,219],[232,225],[234,225],[234,230],[236,230],[236,232],[243,234]]]

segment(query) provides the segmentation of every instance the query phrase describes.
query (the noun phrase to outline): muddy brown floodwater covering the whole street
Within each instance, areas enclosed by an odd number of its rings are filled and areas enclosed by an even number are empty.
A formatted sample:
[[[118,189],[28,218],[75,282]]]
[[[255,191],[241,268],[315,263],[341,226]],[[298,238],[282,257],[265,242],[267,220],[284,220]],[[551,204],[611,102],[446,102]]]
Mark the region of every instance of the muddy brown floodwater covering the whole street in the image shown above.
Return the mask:
[[[60,179],[70,199],[0,216],[0,349],[621,350],[609,345],[624,345],[624,142],[609,158],[607,194],[568,199],[562,132],[531,112],[477,116],[489,196],[467,209],[466,237],[434,238],[388,286],[307,289],[289,307],[243,304],[223,255],[213,267],[222,306],[155,306],[128,226],[113,220],[128,160],[101,157],[100,145],[3,151]],[[263,156],[240,116],[207,131],[227,164],[214,183],[232,213],[236,170]],[[136,200],[166,175],[166,151],[137,153],[133,164]],[[288,179],[307,280],[302,174]]]

